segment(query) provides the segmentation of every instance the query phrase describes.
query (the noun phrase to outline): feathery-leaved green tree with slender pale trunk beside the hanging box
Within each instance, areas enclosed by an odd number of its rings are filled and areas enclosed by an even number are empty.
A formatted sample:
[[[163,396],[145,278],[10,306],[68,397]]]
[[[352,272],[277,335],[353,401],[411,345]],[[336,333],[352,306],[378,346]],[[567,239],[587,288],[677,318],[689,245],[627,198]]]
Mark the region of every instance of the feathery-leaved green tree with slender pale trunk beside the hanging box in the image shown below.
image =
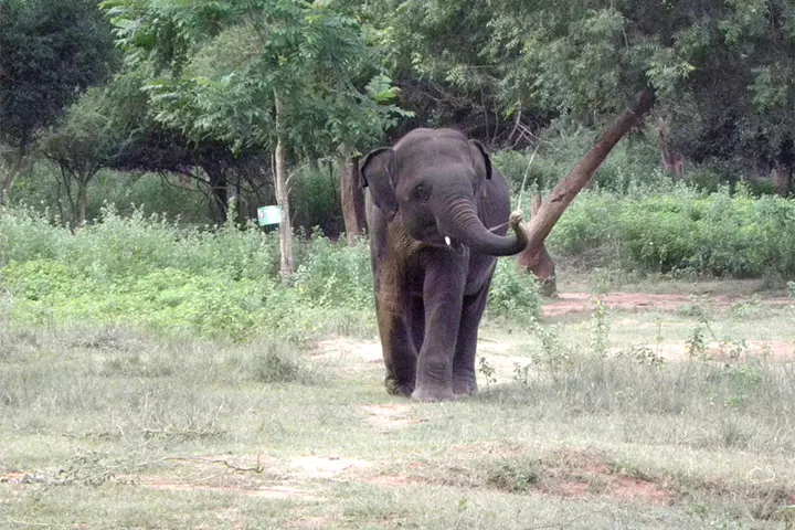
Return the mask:
[[[289,220],[287,157],[335,155],[379,137],[396,110],[369,92],[384,77],[340,1],[109,0],[128,62],[148,66],[155,117],[194,140],[276,155],[276,190]],[[370,71],[367,87],[361,82]],[[388,88],[389,92],[389,88]],[[292,231],[282,226],[289,253]],[[283,275],[292,274],[289,256]]]

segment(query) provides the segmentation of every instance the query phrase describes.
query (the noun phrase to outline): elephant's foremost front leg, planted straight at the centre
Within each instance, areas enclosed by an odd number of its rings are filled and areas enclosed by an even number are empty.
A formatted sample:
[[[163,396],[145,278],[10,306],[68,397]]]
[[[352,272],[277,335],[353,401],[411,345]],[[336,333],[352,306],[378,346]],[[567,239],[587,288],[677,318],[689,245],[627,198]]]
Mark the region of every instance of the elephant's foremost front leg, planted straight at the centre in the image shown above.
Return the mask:
[[[452,400],[453,356],[460,322],[465,264],[449,251],[428,259],[423,283],[425,338],[420,350],[416,401]]]

